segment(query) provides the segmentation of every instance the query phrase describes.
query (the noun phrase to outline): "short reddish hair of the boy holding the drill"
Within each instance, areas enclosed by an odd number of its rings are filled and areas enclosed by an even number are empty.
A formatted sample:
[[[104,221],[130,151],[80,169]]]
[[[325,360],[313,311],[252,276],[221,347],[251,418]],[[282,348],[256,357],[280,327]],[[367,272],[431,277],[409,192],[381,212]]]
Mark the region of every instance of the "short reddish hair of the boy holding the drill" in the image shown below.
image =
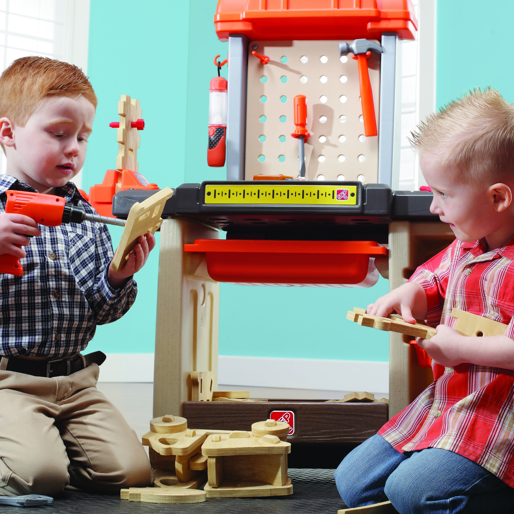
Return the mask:
[[[0,118],[23,127],[44,98],[80,95],[96,108],[95,90],[78,66],[48,57],[22,57],[0,77]]]

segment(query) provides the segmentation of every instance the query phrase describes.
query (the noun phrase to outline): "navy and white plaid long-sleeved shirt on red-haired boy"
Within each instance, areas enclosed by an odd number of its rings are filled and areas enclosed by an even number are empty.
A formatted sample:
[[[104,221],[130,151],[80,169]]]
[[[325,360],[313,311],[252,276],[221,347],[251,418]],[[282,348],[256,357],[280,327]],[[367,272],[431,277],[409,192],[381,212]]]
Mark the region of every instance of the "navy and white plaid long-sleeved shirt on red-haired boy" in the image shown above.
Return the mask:
[[[37,192],[0,175],[0,212],[8,189]],[[86,212],[96,213],[74,183],[56,189]],[[40,225],[21,260],[21,277],[0,273],[0,355],[66,357],[84,350],[96,325],[121,318],[136,298],[134,280],[122,289],[107,282],[113,245],[107,227],[84,221],[59,227]]]

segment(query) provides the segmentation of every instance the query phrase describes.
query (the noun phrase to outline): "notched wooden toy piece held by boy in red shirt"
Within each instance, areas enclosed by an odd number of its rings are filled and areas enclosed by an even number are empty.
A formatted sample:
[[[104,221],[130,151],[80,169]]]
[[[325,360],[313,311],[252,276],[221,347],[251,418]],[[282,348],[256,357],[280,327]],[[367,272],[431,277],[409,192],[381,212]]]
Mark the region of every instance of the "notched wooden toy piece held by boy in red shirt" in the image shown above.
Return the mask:
[[[453,308],[451,316],[457,319],[455,330],[463,336],[501,336],[505,334],[507,328],[504,323],[470,314],[461,309]],[[370,326],[379,330],[398,332],[399,334],[423,339],[430,339],[437,334],[435,328],[425,323],[418,321],[415,325],[412,325],[403,321],[403,318],[397,314],[391,314],[387,318],[372,316],[366,314],[366,310],[359,307],[354,307],[353,311],[348,310],[346,319],[355,321],[362,326]]]

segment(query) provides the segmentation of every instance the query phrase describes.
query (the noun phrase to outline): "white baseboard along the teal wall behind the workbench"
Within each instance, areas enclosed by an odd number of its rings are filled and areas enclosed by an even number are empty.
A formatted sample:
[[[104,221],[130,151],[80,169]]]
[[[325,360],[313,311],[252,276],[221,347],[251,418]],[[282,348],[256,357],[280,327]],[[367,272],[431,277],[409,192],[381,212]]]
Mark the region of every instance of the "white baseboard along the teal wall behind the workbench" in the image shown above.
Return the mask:
[[[389,392],[389,363],[219,356],[218,383],[325,391]],[[154,354],[107,354],[99,382],[153,382]]]

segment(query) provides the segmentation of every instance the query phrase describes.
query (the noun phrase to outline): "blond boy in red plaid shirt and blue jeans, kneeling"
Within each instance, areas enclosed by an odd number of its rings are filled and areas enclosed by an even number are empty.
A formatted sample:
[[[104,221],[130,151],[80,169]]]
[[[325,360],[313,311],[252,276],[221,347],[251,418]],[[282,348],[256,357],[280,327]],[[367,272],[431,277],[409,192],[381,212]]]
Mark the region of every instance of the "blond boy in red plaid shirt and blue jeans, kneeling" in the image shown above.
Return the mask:
[[[336,471],[351,507],[391,500],[400,512],[510,512],[514,506],[514,107],[475,90],[413,134],[431,212],[456,240],[407,284],[368,306],[437,335],[418,340],[434,382]],[[508,324],[464,337],[453,307]]]

